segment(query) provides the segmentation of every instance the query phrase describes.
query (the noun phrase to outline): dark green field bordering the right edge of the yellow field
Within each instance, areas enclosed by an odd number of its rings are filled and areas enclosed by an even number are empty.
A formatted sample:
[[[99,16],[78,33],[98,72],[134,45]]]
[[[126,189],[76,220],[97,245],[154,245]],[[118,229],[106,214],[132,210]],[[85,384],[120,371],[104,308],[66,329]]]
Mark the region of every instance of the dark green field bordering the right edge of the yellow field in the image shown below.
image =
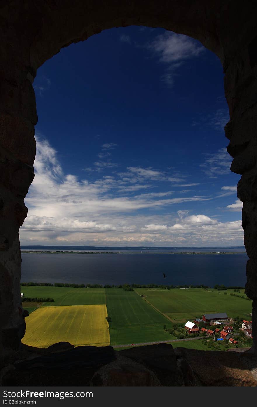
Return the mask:
[[[171,322],[135,291],[107,288],[106,306],[112,319],[109,323],[111,345],[175,339],[163,329],[164,324],[171,327]]]

